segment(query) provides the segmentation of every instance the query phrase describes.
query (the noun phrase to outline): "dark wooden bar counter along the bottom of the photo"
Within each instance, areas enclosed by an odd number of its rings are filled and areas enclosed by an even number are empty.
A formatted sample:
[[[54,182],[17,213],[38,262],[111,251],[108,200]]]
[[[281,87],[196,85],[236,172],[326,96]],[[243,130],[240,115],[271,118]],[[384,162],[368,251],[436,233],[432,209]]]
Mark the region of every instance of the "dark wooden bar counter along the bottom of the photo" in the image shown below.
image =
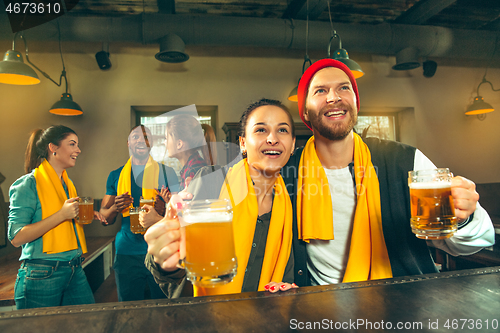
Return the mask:
[[[500,266],[394,279],[0,313],[0,332],[499,332]]]

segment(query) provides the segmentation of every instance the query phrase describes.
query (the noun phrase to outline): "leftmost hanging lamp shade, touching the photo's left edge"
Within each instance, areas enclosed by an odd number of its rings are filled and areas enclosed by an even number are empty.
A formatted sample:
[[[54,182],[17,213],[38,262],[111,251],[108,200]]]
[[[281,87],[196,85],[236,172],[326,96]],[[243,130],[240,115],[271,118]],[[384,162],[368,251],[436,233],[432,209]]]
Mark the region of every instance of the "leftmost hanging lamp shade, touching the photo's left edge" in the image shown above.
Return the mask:
[[[26,65],[21,53],[9,50],[0,61],[0,82],[15,85],[33,85],[40,83],[33,68]]]

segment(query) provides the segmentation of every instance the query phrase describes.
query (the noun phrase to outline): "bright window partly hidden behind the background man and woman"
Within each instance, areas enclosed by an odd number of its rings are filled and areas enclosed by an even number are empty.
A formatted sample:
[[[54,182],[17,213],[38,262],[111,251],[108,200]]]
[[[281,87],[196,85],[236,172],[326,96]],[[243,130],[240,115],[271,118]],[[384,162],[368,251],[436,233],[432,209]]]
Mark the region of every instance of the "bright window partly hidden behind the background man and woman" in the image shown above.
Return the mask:
[[[212,126],[217,135],[217,106],[132,106],[132,116],[135,117],[135,125],[145,125],[153,135],[153,147],[151,156],[155,161],[163,162],[173,168],[179,175],[182,165],[175,158],[168,158],[165,148],[165,127],[173,116],[181,109],[183,113],[192,114],[202,124]],[[170,112],[174,111],[174,112]]]

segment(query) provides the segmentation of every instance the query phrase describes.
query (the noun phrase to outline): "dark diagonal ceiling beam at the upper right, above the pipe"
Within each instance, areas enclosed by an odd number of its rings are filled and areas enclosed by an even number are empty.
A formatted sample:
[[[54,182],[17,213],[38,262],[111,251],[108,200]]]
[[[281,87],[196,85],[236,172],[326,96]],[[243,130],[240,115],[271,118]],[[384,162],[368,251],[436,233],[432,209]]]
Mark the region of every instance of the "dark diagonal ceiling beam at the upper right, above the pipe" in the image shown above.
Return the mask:
[[[397,24],[424,24],[428,19],[439,14],[446,7],[457,0],[420,0],[410,9],[401,14],[394,23]]]

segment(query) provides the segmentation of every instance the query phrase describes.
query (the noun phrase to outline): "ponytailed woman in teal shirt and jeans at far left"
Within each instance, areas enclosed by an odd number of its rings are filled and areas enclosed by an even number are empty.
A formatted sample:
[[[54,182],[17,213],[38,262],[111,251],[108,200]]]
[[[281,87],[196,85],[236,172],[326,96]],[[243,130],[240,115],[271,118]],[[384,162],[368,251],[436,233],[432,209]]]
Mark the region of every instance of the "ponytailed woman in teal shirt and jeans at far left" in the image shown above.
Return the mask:
[[[31,134],[26,174],[9,191],[8,237],[15,247],[22,246],[17,309],[94,303],[81,266],[85,235],[74,220],[78,195],[66,172],[80,153],[78,136],[66,126]],[[98,212],[94,218],[104,220]]]

